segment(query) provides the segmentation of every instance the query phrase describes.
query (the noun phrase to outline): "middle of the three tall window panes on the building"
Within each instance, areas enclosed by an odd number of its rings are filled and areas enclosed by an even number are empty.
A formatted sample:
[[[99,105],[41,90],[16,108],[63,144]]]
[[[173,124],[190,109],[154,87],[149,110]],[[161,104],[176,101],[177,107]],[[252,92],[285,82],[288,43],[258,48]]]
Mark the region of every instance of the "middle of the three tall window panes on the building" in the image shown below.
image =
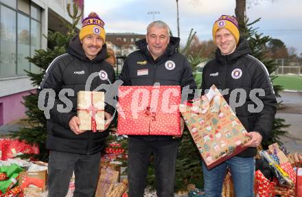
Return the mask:
[[[30,71],[30,62],[26,57],[30,56],[30,18],[18,13],[17,31],[17,75]]]

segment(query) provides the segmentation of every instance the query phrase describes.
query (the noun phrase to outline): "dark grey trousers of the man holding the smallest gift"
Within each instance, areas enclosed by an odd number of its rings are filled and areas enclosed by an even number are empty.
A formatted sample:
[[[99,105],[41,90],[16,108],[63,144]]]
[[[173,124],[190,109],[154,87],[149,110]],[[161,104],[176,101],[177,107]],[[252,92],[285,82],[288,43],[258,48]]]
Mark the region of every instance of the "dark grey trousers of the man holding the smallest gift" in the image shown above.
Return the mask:
[[[100,161],[100,152],[86,155],[51,150],[48,161],[48,196],[65,197],[73,171],[75,174],[73,196],[94,196]]]

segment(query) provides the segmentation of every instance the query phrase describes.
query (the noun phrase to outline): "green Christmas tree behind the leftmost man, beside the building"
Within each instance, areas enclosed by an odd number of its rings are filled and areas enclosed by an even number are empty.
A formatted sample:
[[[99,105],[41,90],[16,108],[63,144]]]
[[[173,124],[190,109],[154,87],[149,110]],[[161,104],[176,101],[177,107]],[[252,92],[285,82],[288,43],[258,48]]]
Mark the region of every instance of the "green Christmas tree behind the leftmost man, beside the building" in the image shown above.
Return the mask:
[[[47,49],[36,50],[36,54],[33,58],[27,57],[27,59],[41,69],[41,73],[27,72],[27,76],[32,80],[34,86],[39,86],[40,82],[43,80],[43,76],[49,64],[62,54],[65,54],[69,45],[69,40],[75,36],[75,25],[81,19],[82,10],[78,8],[78,5],[73,3],[73,12],[71,13],[71,5],[67,5],[67,11],[71,19],[73,19],[72,24],[66,24],[67,34],[61,34],[60,32],[48,32],[47,35]],[[64,22],[62,22],[64,23]],[[46,149],[46,118],[43,111],[38,109],[38,93],[30,93],[23,97],[24,106],[27,108],[25,114],[29,126],[20,128],[16,132],[11,132],[10,137],[19,140],[24,140],[30,144],[36,144],[40,148],[40,154],[23,154],[21,157],[29,158],[34,157],[40,161],[47,161],[48,151]]]

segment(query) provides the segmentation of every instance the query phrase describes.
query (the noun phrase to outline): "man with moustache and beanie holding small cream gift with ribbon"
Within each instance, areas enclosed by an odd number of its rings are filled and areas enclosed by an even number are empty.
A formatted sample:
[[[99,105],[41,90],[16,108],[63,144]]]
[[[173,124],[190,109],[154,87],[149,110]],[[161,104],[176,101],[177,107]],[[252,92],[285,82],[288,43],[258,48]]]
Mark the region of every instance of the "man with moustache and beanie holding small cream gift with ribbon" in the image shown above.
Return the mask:
[[[54,107],[49,111],[50,118],[47,119],[46,142],[47,149],[50,150],[47,184],[50,197],[66,196],[73,171],[73,196],[94,195],[100,152],[104,148],[108,135],[106,129],[114,111],[108,104],[105,106],[105,119],[108,122],[104,130],[80,130],[77,93],[93,91],[100,84],[115,81],[113,67],[104,61],[106,56],[104,22],[91,12],[82,21],[80,34],[71,39],[67,54],[58,56],[51,62],[40,84],[40,94],[49,90],[56,93],[56,97],[46,97],[47,103],[54,100]],[[85,89],[86,84],[88,89]]]

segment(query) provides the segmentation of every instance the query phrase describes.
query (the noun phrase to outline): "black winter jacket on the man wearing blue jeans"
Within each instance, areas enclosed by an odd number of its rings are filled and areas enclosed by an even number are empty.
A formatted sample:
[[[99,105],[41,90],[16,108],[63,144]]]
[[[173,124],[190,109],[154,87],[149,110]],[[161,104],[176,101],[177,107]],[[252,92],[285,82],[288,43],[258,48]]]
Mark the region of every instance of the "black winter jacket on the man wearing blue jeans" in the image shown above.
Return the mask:
[[[232,54],[223,56],[220,49],[217,49],[216,58],[209,61],[202,71],[202,95],[212,84],[215,84],[223,93],[229,89],[224,95],[224,99],[229,103],[233,90],[244,90],[246,98],[243,94],[234,94],[236,102],[239,102],[240,98],[244,100],[242,106],[235,108],[235,113],[248,132],[259,132],[263,139],[267,139],[275,119],[277,102],[266,67],[250,54],[248,43],[244,39],[240,39],[240,43]],[[253,89],[263,89],[265,92],[263,96],[257,95],[258,102],[261,100],[263,103],[262,111],[257,113],[248,110],[248,105],[250,108],[257,107],[255,98],[250,97]],[[252,157],[255,154],[255,148],[248,148],[238,156]]]

